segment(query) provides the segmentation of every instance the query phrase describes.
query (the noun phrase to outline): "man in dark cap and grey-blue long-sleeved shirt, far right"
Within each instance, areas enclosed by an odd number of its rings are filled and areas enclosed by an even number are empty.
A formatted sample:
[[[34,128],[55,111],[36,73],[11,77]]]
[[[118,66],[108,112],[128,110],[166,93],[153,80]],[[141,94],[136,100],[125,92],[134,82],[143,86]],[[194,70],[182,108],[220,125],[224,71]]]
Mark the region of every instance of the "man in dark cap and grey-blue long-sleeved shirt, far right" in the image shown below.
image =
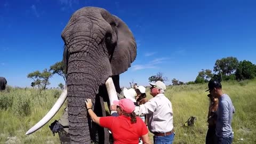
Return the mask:
[[[235,111],[233,103],[228,94],[222,92],[220,81],[211,79],[208,83],[209,93],[219,99],[216,122],[216,135],[219,144],[232,143],[234,134],[231,127],[233,113]]]

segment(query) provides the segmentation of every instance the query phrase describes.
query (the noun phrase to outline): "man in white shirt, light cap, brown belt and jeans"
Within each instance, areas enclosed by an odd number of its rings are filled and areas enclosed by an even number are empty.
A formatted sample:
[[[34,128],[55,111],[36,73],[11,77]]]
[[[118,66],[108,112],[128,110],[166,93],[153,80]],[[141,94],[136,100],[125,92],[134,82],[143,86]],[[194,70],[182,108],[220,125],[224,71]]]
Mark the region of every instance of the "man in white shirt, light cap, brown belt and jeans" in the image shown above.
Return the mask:
[[[166,86],[163,82],[150,83],[150,94],[154,97],[143,105],[135,107],[135,114],[145,114],[148,118],[148,129],[154,134],[154,144],[172,143],[173,111],[172,103],[164,95]]]

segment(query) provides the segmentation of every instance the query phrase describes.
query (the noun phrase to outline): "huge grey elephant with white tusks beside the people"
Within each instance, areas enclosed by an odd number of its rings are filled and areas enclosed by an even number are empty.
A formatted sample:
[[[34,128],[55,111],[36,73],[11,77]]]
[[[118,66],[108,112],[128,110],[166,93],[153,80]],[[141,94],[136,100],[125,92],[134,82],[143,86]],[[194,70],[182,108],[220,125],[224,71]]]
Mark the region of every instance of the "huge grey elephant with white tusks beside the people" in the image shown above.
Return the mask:
[[[105,9],[83,7],[71,15],[61,37],[65,43],[63,62],[67,84],[60,96],[62,100],[59,98],[52,109],[59,109],[67,97],[71,143],[91,143],[91,140],[109,143],[107,129],[93,124],[87,115],[85,100],[92,99],[94,112],[106,116],[103,102],[110,105],[117,99],[116,92],[121,92],[119,75],[131,67],[137,56],[132,31]],[[38,122],[41,124],[37,123],[26,134],[50,121],[58,111],[51,110],[47,118]]]

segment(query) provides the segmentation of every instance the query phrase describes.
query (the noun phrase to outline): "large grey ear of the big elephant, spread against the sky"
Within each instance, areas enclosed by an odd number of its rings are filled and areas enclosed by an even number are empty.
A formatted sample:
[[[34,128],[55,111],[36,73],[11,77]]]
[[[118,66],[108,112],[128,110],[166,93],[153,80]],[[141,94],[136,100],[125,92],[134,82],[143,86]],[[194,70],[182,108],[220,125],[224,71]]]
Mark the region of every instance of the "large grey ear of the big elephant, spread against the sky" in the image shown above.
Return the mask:
[[[113,75],[124,73],[137,55],[137,45],[132,31],[118,17],[113,15],[116,24],[117,44],[110,60]]]

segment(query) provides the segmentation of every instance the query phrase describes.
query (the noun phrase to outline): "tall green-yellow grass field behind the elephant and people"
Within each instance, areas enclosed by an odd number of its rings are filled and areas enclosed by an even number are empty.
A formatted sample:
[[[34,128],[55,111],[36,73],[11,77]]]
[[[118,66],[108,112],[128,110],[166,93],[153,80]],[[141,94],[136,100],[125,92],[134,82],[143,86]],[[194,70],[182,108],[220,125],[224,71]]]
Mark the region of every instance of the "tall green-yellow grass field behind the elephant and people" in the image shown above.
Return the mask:
[[[230,95],[236,113],[233,116],[233,143],[256,143],[256,80],[223,82],[223,91]],[[205,143],[207,132],[207,84],[169,86],[165,93],[173,105],[174,143]],[[59,90],[41,94],[33,89],[10,89],[0,92],[0,143],[60,143],[49,125],[63,113],[65,106],[42,129],[25,135],[26,131],[51,109]],[[152,98],[147,91],[148,98]],[[66,103],[65,103],[66,105]],[[197,117],[193,127],[182,127],[190,116]],[[152,139],[152,135],[151,135]]]

